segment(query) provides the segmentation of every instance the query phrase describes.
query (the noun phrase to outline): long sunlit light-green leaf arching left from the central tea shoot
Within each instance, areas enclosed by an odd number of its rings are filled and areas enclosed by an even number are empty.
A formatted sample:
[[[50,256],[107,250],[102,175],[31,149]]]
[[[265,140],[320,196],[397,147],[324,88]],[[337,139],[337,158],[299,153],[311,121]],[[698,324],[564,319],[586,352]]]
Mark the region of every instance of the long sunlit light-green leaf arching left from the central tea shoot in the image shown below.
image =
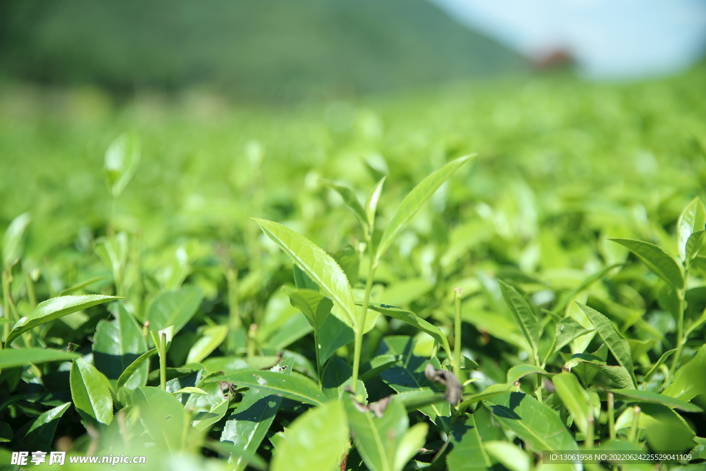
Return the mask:
[[[357,326],[358,316],[353,290],[338,263],[323,249],[292,229],[277,224],[277,222],[256,218],[253,220],[311,280],[321,287],[326,296],[338,304],[345,313],[341,321],[348,326]]]

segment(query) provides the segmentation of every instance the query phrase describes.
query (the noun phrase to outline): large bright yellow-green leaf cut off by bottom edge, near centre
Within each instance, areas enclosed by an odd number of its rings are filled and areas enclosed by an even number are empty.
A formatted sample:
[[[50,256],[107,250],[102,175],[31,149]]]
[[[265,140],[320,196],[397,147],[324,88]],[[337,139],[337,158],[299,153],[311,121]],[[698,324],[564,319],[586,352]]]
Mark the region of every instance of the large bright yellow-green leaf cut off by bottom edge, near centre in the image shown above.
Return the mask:
[[[277,445],[272,471],[337,471],[348,448],[348,424],[339,401],[297,417]]]

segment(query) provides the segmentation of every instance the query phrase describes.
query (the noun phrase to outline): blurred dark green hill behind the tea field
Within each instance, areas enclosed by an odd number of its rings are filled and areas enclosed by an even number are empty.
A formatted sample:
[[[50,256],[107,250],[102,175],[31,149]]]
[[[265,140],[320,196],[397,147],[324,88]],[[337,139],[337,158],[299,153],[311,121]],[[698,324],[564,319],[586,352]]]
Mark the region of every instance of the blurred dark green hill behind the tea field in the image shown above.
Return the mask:
[[[5,0],[13,78],[116,93],[207,85],[252,100],[400,90],[517,71],[426,0]]]

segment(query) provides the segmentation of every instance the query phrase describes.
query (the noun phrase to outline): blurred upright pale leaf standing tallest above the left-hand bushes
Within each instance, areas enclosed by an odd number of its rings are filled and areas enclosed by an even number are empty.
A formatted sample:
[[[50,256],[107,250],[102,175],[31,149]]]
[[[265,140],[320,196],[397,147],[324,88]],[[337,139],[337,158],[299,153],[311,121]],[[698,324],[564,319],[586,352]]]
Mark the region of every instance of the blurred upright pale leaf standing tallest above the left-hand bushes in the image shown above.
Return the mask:
[[[120,196],[140,164],[140,138],[123,133],[110,143],[105,152],[105,181],[113,198]]]

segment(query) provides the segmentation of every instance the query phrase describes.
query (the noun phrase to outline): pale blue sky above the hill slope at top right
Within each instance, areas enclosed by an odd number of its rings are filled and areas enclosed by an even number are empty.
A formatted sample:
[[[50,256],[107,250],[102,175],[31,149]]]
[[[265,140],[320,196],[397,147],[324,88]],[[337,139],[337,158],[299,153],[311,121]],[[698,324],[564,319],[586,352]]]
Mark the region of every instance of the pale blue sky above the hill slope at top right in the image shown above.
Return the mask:
[[[706,0],[432,0],[530,58],[562,50],[588,78],[681,71],[706,51]]]

